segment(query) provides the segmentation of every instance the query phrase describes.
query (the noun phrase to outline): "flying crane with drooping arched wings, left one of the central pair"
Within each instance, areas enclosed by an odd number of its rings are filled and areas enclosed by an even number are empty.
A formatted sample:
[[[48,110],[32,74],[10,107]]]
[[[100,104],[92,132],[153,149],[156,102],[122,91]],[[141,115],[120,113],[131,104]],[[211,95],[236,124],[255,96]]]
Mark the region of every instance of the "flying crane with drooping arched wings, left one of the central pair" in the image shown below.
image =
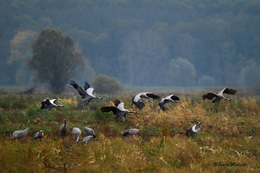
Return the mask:
[[[142,98],[148,98],[150,100],[154,100],[154,99],[161,99],[161,97],[162,96],[157,96],[157,95],[155,95],[153,93],[139,93],[139,94],[135,94],[135,97],[132,98],[131,106],[134,104],[137,108],[143,109],[145,104],[143,103]]]

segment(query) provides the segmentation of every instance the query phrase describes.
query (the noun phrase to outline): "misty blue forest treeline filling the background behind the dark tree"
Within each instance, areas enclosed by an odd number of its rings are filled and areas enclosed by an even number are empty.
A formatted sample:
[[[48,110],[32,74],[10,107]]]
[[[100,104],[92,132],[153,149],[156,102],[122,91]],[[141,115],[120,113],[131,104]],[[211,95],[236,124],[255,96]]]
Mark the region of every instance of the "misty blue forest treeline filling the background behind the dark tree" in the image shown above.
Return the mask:
[[[260,79],[259,0],[0,0],[0,85],[32,85],[44,28],[72,37],[98,74],[129,86],[252,86]]]

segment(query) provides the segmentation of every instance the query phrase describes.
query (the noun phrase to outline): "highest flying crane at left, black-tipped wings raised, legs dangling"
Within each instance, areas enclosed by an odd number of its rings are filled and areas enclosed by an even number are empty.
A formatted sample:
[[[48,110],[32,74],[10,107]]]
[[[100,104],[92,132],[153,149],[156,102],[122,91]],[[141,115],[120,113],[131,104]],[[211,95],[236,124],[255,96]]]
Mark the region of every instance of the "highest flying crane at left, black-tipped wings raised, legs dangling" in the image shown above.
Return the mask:
[[[85,81],[84,89],[78,86],[78,84],[74,80],[70,80],[70,85],[72,85],[78,91],[78,94],[81,96],[81,98],[83,98],[82,102],[86,102],[84,108],[87,108],[88,103],[92,99],[103,100],[101,97],[96,97],[93,95],[94,88],[92,88],[92,86],[90,86],[87,81]]]

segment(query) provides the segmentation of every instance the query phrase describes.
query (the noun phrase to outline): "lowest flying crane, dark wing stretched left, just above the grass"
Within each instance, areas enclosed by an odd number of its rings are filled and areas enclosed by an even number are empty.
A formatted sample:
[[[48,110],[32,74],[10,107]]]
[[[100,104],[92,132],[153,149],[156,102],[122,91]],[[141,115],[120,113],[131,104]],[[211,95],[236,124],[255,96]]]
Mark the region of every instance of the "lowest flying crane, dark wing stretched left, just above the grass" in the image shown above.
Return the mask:
[[[113,114],[116,115],[118,119],[122,119],[123,121],[126,120],[126,115],[128,113],[135,113],[135,114],[137,114],[136,111],[129,111],[129,110],[125,109],[124,108],[124,102],[122,102],[122,101],[115,100],[114,103],[117,106],[104,106],[100,110],[102,112],[110,112],[110,111],[112,111]]]

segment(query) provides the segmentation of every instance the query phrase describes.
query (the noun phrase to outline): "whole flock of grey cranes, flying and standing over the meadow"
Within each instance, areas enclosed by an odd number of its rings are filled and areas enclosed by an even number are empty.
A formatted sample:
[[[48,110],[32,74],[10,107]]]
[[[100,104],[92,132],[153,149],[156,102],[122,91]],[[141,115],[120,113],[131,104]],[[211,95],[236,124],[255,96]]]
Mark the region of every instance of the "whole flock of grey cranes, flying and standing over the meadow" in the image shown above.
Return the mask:
[[[78,84],[74,80],[71,80],[69,84],[72,85],[78,91],[78,93],[81,96],[81,98],[83,98],[82,102],[86,102],[85,105],[84,105],[84,108],[87,108],[88,103],[92,99],[101,99],[101,100],[103,100],[102,98],[96,97],[96,96],[94,96],[92,94],[94,89],[92,88],[92,86],[90,86],[87,83],[87,81],[85,81],[84,89],[82,87],[78,86]],[[226,88],[222,89],[221,91],[219,91],[217,93],[209,92],[207,94],[204,94],[202,97],[203,97],[204,100],[206,98],[209,99],[209,100],[213,100],[212,102],[215,103],[215,111],[214,111],[214,113],[215,113],[215,112],[218,111],[218,103],[219,103],[219,101],[221,99],[225,99],[225,100],[231,101],[230,98],[224,97],[223,94],[235,95],[236,93],[237,93],[237,90],[233,90],[231,88],[226,87]],[[177,96],[175,96],[173,94],[169,95],[169,96],[167,96],[165,98],[162,98],[162,96],[158,96],[158,95],[155,95],[153,93],[140,93],[140,94],[136,94],[135,97],[132,98],[131,106],[134,104],[137,108],[142,110],[143,107],[145,106],[142,98],[147,98],[147,99],[151,99],[151,100],[155,100],[155,99],[159,100],[159,99],[161,99],[161,101],[158,104],[159,107],[160,107],[159,110],[158,110],[158,114],[159,114],[161,110],[163,110],[163,111],[165,110],[164,104],[169,103],[169,102],[181,103],[179,97],[177,97]],[[122,102],[120,100],[115,99],[114,100],[114,105],[115,106],[104,106],[100,110],[102,112],[110,112],[110,111],[112,111],[113,114],[117,116],[118,120],[121,119],[123,121],[126,121],[128,113],[135,113],[135,114],[137,114],[136,111],[129,111],[129,110],[125,109],[124,108],[124,102]],[[58,105],[56,99],[49,100],[49,98],[47,98],[44,101],[42,101],[41,109],[47,109],[46,110],[47,115],[48,115],[50,109],[54,108],[54,107],[64,107],[64,106],[63,105]],[[88,108],[87,108],[87,112],[88,112]],[[24,130],[21,129],[22,125],[20,124],[19,125],[20,130],[13,132],[12,139],[15,139],[15,138],[16,139],[22,139],[23,137],[25,137],[27,135],[28,131],[29,131],[29,123],[30,123],[30,121],[27,122],[27,128],[24,129]],[[92,140],[93,138],[96,138],[95,131],[90,129],[90,128],[88,128],[88,127],[86,127],[86,124],[87,124],[87,122],[84,122],[84,130],[85,130],[85,132],[87,133],[88,136],[83,138],[83,143],[87,143],[88,141]],[[195,130],[196,124],[193,125],[193,126],[190,126],[187,129],[187,131],[186,131],[186,136],[197,136],[199,131],[200,131],[200,125],[203,125],[203,124],[201,122],[198,122],[198,129],[197,130]],[[126,130],[123,133],[123,136],[132,136],[132,135],[137,134],[140,131],[139,124],[137,124],[136,127],[137,127],[137,129],[128,129],[128,130]],[[81,130],[79,128],[77,128],[77,127],[72,127],[70,130],[72,131],[72,133],[74,133],[75,136],[77,136],[77,142],[78,142],[79,137],[81,135]],[[64,119],[64,124],[61,125],[60,131],[61,131],[62,136],[66,135],[66,133],[67,133],[67,122],[66,122],[66,119]],[[255,130],[253,129],[252,131],[253,131],[253,135],[249,136],[247,139],[253,139],[254,138]],[[43,135],[44,135],[44,133],[42,132],[42,130],[40,130],[39,132],[37,132],[34,135],[33,139],[41,139]]]

